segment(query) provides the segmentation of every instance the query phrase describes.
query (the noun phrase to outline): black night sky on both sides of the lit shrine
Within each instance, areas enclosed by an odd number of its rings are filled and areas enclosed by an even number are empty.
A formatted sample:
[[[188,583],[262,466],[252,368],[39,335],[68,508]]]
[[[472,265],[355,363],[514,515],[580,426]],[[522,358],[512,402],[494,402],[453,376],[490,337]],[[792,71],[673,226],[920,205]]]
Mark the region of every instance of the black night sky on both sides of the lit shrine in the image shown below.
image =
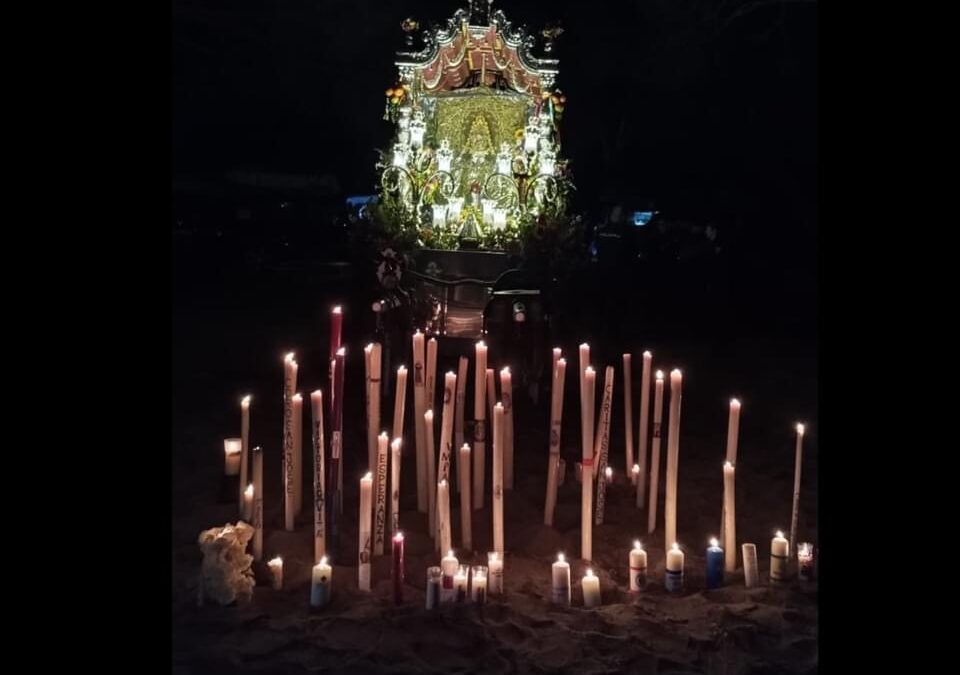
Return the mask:
[[[175,169],[331,173],[369,193],[400,21],[456,0],[175,0]],[[466,4],[466,0],[463,0]],[[816,4],[498,0],[559,20],[580,206],[653,197],[715,213],[816,210]]]

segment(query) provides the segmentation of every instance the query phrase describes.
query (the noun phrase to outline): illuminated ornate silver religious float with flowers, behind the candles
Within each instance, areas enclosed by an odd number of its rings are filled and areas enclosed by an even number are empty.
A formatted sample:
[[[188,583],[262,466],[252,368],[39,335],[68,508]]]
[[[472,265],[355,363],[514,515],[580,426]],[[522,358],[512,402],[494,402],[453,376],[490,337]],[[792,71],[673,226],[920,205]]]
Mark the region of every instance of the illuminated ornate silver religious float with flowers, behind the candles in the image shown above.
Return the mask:
[[[470,2],[422,32],[413,19],[402,24],[406,48],[384,114],[395,127],[370,214],[384,244],[380,282],[405,292],[376,309],[405,306],[414,326],[436,335],[489,336],[532,383],[542,371],[535,355],[549,353],[543,287],[560,251],[581,243],[567,212],[566,98],[548,56],[561,30],[534,36],[491,5]]]

